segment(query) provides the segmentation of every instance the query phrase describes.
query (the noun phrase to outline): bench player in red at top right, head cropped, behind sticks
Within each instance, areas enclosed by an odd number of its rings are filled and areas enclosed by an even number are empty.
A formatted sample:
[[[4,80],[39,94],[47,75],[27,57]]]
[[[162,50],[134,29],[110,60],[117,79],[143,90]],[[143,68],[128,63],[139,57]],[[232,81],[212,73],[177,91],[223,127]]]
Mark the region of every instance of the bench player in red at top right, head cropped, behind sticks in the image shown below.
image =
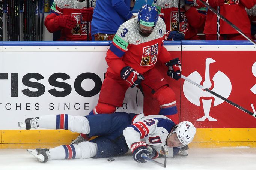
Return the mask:
[[[197,0],[199,1],[199,0]],[[215,10],[220,6],[220,14],[236,25],[246,36],[251,36],[251,24],[245,7],[250,9],[256,4],[256,0],[203,0]],[[200,1],[198,2],[199,4]],[[206,40],[217,39],[217,15],[208,10],[204,34]],[[220,20],[220,40],[247,40],[225,21]]]

